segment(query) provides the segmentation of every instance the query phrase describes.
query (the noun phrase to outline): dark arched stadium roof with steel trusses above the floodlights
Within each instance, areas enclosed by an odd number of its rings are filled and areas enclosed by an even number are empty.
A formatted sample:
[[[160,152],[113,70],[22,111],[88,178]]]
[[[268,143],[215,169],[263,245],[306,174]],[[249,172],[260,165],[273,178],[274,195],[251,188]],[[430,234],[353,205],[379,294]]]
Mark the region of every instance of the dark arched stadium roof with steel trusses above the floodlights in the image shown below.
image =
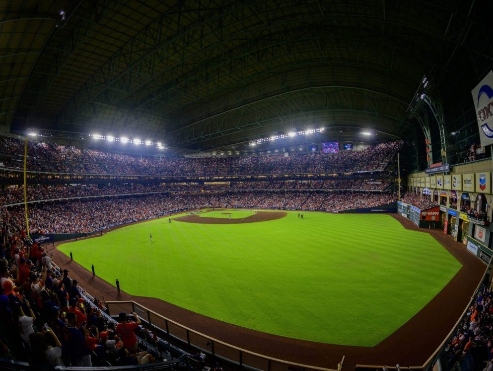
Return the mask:
[[[493,64],[491,14],[489,0],[2,0],[1,131],[185,153],[319,127],[397,138],[424,77],[445,108],[470,98]]]

